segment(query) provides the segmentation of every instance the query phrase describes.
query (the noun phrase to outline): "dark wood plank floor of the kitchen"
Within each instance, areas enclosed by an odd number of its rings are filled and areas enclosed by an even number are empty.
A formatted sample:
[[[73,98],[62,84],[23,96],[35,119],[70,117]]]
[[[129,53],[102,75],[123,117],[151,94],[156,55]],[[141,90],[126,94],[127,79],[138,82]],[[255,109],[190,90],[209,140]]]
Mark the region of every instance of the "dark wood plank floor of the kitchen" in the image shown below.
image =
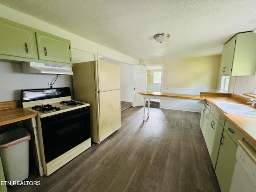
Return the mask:
[[[199,121],[200,113],[143,108],[123,112],[122,126],[101,144],[51,174],[30,168],[28,181],[9,192],[220,192]]]

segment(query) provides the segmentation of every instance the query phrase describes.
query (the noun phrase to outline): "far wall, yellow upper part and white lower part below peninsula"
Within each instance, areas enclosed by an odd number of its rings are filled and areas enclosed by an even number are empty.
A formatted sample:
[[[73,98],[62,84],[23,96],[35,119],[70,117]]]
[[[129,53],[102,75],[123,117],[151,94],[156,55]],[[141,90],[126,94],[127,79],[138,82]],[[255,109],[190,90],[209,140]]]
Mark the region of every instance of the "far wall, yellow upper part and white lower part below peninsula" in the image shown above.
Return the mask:
[[[163,64],[162,92],[195,94],[215,92],[221,56],[141,60],[140,65]],[[202,100],[161,100],[160,108],[201,112]]]

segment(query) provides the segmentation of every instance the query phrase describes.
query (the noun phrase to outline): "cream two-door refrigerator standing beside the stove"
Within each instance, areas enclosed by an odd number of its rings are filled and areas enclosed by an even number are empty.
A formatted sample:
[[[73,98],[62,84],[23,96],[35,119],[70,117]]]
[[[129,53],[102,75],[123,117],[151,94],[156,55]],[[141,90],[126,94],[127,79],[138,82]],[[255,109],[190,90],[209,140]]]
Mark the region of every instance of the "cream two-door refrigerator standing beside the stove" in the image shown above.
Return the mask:
[[[121,127],[120,66],[92,61],[72,69],[74,98],[90,104],[91,138],[100,143]]]

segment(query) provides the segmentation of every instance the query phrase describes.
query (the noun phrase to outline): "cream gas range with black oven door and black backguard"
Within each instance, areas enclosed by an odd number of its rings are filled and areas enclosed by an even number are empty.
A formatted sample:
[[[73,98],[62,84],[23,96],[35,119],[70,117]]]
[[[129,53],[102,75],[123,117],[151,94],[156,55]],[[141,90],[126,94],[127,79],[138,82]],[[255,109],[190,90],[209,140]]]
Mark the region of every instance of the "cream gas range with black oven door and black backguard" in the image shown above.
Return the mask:
[[[21,101],[37,114],[46,176],[91,146],[90,104],[72,100],[70,88],[21,90]]]

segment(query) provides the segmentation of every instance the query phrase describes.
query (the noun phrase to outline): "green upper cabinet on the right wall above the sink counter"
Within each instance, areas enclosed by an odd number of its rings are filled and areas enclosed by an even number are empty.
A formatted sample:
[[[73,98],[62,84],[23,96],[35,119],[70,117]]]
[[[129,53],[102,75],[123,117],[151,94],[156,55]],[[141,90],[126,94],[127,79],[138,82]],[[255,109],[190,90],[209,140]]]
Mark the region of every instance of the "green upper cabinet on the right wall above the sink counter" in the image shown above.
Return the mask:
[[[223,46],[221,76],[254,75],[256,70],[256,34],[239,33]]]

